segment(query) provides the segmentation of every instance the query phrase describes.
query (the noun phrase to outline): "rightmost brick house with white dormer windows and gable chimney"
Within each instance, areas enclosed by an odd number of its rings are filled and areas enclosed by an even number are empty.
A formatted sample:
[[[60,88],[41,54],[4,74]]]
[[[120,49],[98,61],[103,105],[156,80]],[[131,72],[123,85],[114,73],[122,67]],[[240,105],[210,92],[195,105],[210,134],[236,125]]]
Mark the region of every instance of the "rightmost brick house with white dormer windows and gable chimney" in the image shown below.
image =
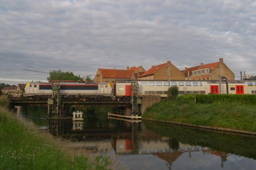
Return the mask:
[[[220,58],[219,62],[215,63],[201,63],[194,67],[185,67],[183,72],[188,80],[219,80],[219,67],[222,78],[234,80],[234,73],[224,63],[223,58]]]

